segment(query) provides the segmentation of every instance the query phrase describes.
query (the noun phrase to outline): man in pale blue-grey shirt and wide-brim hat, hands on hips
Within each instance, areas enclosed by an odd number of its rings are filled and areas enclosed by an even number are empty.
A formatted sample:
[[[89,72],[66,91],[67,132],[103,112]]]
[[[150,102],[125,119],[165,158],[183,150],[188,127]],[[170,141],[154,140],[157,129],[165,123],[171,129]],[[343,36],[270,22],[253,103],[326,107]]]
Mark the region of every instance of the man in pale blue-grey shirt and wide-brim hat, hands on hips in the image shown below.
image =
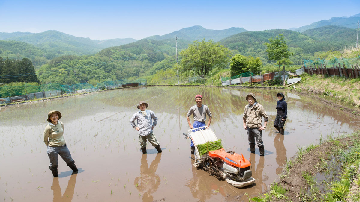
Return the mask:
[[[147,153],[146,142],[148,140],[156,148],[158,153],[162,152],[160,144],[153,132],[153,129],[157,124],[157,116],[153,111],[147,109],[149,104],[144,101],[140,101],[139,105],[136,107],[140,109],[140,111],[131,117],[130,124],[132,128],[138,131],[141,151],[143,151],[143,154]],[[135,125],[135,120],[138,126]]]

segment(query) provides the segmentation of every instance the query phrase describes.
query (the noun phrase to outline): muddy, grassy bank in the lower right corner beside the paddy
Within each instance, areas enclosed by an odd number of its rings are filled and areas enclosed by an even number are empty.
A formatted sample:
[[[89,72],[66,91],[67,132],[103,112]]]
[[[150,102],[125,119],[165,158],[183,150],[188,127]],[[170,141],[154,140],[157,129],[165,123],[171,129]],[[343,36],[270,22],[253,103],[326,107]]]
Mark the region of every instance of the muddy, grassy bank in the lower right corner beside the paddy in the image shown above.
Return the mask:
[[[360,132],[298,147],[278,182],[249,201],[359,201]]]

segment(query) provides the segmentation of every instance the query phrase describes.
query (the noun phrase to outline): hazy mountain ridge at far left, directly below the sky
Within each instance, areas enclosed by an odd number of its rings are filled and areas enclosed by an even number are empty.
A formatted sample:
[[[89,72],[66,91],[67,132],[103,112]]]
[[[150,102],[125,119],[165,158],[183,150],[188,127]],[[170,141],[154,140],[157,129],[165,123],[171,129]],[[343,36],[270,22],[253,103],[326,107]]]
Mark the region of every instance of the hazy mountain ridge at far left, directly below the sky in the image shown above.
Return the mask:
[[[36,67],[45,64],[45,61],[43,60],[44,58],[53,59],[63,55],[91,55],[107,47],[120,46],[126,43],[137,41],[133,38],[117,38],[103,41],[91,40],[90,38],[75,37],[54,30],[49,30],[41,33],[1,32],[0,38],[6,41],[12,41],[1,42],[0,50],[3,50],[2,53],[0,53],[1,57],[17,59],[17,54],[23,55],[27,58],[31,58],[32,62]],[[14,46],[16,47],[9,46],[10,43],[13,43],[14,41],[25,42],[27,43],[27,45],[23,43],[14,43]],[[40,62],[34,60],[37,56],[40,56],[39,54],[31,54],[31,52],[38,52],[39,50],[42,50],[44,52],[43,54],[41,54],[42,59]]]

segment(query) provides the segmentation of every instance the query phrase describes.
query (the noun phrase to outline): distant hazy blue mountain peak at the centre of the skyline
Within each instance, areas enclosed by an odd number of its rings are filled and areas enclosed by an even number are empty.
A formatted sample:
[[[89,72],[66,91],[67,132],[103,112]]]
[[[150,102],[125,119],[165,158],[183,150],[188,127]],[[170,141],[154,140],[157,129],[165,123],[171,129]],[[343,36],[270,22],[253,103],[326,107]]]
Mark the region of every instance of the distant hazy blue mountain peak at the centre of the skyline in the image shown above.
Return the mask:
[[[247,30],[242,27],[231,27],[229,29],[222,29],[222,30],[214,30],[214,29],[206,29],[202,26],[193,26],[193,27],[186,27],[180,29],[179,31],[175,31],[166,35],[154,35],[147,37],[147,39],[154,39],[154,40],[162,40],[168,38],[175,38],[175,35],[179,37],[179,39],[184,39],[188,41],[197,41],[205,38],[205,40],[212,39],[213,41],[219,41],[225,37],[235,35],[240,32],[246,32]]]

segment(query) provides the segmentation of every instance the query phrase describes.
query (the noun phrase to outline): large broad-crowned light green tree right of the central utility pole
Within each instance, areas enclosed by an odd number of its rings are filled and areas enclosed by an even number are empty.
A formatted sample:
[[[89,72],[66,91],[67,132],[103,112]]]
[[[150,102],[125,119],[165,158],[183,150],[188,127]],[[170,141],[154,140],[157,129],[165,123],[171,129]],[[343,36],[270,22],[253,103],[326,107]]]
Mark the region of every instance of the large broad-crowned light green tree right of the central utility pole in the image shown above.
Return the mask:
[[[212,40],[194,41],[189,48],[180,52],[183,57],[183,71],[194,71],[200,76],[207,75],[213,68],[224,69],[229,63],[230,51]]]

